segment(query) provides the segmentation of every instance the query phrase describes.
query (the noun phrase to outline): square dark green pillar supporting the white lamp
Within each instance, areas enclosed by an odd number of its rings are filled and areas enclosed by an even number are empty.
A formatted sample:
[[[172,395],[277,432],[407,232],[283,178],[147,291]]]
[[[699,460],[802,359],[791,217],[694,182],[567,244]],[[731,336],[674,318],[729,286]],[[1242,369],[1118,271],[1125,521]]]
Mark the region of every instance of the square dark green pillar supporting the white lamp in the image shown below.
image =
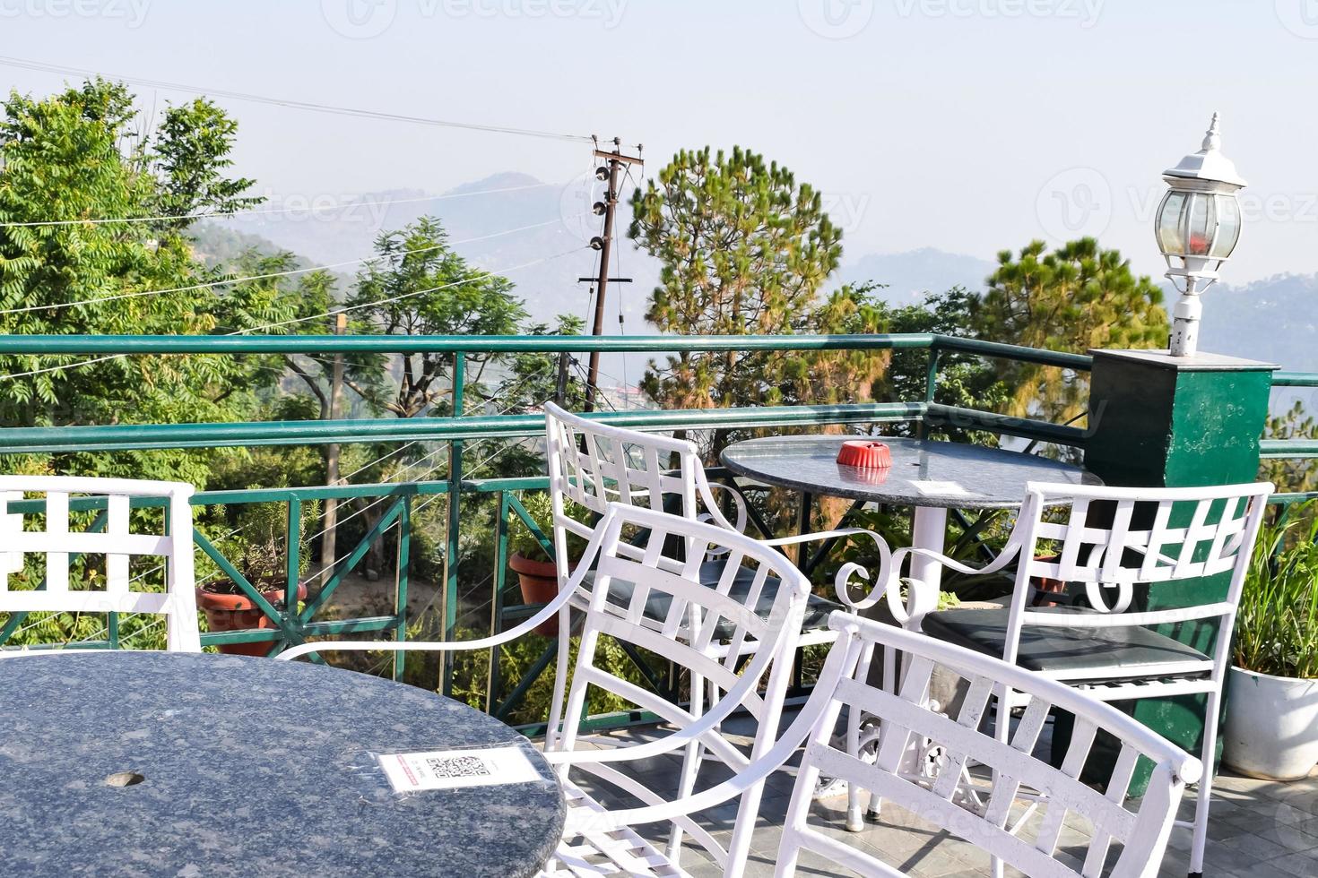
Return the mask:
[[[1257,479],[1259,438],[1277,366],[1217,354],[1091,353],[1086,469],[1107,484],[1123,487],[1193,487]],[[1185,513],[1189,516],[1190,511]],[[1149,609],[1184,606],[1190,594],[1199,600],[1220,600],[1228,581],[1230,574],[1223,574],[1156,584],[1140,598]],[[1164,633],[1201,650],[1213,645],[1211,625],[1190,623]],[[1143,700],[1133,703],[1133,715],[1190,753],[1198,753],[1202,703],[1203,696]]]

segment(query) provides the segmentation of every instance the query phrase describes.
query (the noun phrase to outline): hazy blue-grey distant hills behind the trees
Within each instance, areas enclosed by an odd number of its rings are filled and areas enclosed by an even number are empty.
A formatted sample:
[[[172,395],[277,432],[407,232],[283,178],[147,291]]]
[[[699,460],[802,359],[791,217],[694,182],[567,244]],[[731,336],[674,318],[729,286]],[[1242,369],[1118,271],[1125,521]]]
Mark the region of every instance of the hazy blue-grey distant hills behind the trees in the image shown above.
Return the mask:
[[[596,254],[587,249],[598,234],[600,219],[589,212],[600,197],[600,183],[583,175],[568,183],[543,183],[518,172],[473,180],[439,196],[419,190],[369,192],[333,199],[272,201],[269,208],[312,204],[330,207],[312,213],[265,213],[198,229],[198,251],[208,262],[227,261],[246,247],[261,251],[289,249],[311,263],[343,262],[372,254],[374,240],[385,230],[402,228],[423,215],[439,217],[456,249],[476,265],[503,271],[517,283],[536,320],[558,313],[588,316],[589,284],[577,278],[597,272]],[[506,190],[490,192],[490,190]],[[377,201],[393,204],[374,204]],[[619,246],[614,276],[633,278],[609,291],[605,332],[619,330],[619,308],[627,334],[652,332],[645,323],[646,303],[659,279],[659,266],[638,253],[626,240],[630,222],[626,204],[619,208]],[[534,228],[523,228],[534,226]],[[513,230],[519,229],[519,230]],[[513,269],[551,258],[539,265]],[[920,247],[905,253],[870,253],[847,258],[830,280],[875,280],[887,284],[883,297],[895,304],[917,301],[925,292],[954,286],[983,290],[994,263],[978,257]],[[345,278],[355,271],[341,269]],[[1168,296],[1174,301],[1174,296]],[[1282,275],[1232,287],[1218,284],[1205,295],[1201,346],[1236,357],[1278,362],[1284,369],[1318,371],[1318,275]],[[627,378],[634,382],[645,357],[627,357]],[[605,365],[619,376],[621,358]],[[1278,403],[1282,401],[1278,395]],[[1318,409],[1318,400],[1311,408]]]

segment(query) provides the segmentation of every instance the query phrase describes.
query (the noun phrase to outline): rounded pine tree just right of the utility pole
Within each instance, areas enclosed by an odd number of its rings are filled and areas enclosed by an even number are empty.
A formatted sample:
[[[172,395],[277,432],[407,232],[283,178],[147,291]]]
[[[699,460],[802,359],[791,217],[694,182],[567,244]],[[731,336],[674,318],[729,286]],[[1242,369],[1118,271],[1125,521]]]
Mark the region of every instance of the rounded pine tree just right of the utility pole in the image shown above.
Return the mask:
[[[768,334],[878,332],[863,291],[820,290],[842,257],[842,232],[820,194],[776,162],[734,147],[683,150],[631,197],[630,237],[658,258],[648,320],[660,332]],[[883,354],[685,351],[651,361],[642,388],[666,408],[855,401]],[[714,448],[731,438],[714,437]]]

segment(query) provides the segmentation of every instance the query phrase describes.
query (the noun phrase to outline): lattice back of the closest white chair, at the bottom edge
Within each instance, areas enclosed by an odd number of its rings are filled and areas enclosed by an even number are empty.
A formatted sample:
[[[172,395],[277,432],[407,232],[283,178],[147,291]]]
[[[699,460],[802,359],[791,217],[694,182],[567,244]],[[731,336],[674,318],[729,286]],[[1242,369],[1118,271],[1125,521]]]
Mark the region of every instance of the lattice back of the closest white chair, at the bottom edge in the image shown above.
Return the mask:
[[[808,823],[811,791],[820,774],[882,795],[888,819],[895,806],[913,817],[917,831],[949,831],[970,841],[985,852],[986,866],[992,856],[1036,877],[1157,874],[1184,787],[1202,771],[1198,760],[1082,690],[996,658],[842,613],[834,613],[830,625],[841,637],[797,720],[812,723],[812,731],[788,806],[776,874],[793,874],[803,848],[863,875],[900,874],[836,832]],[[888,646],[905,656],[896,694],[866,682],[867,662],[858,661],[866,646]],[[929,707],[934,667],[965,688],[954,716]],[[1010,738],[998,741],[985,717],[991,698],[1003,688],[1019,694],[1024,713]],[[833,729],[844,708],[882,717],[874,763],[834,744]],[[1046,754],[1033,756],[1050,711],[1074,717],[1061,767],[1053,767]],[[1079,779],[1098,732],[1111,735],[1120,746],[1103,790]],[[941,748],[941,758],[928,761],[924,773],[902,770],[908,750],[928,752],[931,742]],[[1140,757],[1152,761],[1153,774],[1144,796],[1133,800],[1126,794]]]

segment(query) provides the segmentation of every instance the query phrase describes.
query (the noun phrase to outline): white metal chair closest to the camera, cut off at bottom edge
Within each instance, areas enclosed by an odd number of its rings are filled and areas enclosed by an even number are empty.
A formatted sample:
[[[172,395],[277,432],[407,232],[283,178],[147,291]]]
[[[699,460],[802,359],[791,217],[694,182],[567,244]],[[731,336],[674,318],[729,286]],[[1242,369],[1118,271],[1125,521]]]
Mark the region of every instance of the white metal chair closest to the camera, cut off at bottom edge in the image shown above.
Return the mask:
[[[587,864],[559,860],[546,874],[555,878],[685,874],[645,845],[635,827],[689,820],[691,815],[745,795],[786,763],[803,741],[805,750],[787,808],[775,875],[796,874],[803,850],[862,875],[903,874],[847,845],[842,841],[845,836],[822,832],[811,824],[811,794],[820,773],[878,791],[891,804],[932,824],[934,831],[944,829],[970,841],[983,850],[986,860],[999,858],[1029,875],[1144,878],[1157,874],[1185,783],[1201,774],[1198,760],[1110,704],[1033,671],[846,613],[834,613],[829,625],[840,637],[811,699],[772,746],[763,744],[764,732],[760,732],[757,738],[759,758],[731,779],[673,802],[623,811],[575,804],[564,836],[604,839],[600,846],[609,848],[608,860]],[[896,649],[907,656],[908,670],[900,691],[887,692],[867,683],[869,656],[875,648]],[[956,719],[928,706],[929,681],[936,666],[965,681],[969,694]],[[1000,741],[982,729],[982,719],[994,692],[1004,687],[1017,692],[1024,717],[1015,735]],[[710,717],[721,713],[722,707],[716,706],[685,729],[687,733],[709,728]],[[833,744],[833,729],[842,708],[884,717],[875,763],[858,760]],[[1077,729],[1061,767],[1032,753],[1044,719],[1053,711],[1070,715]],[[1103,791],[1079,779],[1099,732],[1112,736],[1120,745],[1116,766]],[[671,752],[675,737],[645,745],[650,748],[647,753]],[[916,778],[900,770],[911,738],[932,738],[944,745],[946,760],[933,774]],[[621,754],[639,749],[629,748]],[[589,756],[550,753],[547,758],[587,767],[583,760]],[[1143,798],[1131,800],[1128,785],[1140,757],[1152,761],[1153,775]],[[966,770],[971,761],[994,769],[995,779],[973,778]],[[1023,792],[1032,796],[1032,804],[1024,811],[1014,808]],[[745,837],[746,824],[754,817],[743,804],[734,839],[738,833]],[[1081,828],[1075,823],[1082,824]],[[1112,849],[1114,842],[1120,845],[1119,850]],[[815,869],[811,873],[817,874]],[[741,864],[729,858],[724,874],[739,877]]]

